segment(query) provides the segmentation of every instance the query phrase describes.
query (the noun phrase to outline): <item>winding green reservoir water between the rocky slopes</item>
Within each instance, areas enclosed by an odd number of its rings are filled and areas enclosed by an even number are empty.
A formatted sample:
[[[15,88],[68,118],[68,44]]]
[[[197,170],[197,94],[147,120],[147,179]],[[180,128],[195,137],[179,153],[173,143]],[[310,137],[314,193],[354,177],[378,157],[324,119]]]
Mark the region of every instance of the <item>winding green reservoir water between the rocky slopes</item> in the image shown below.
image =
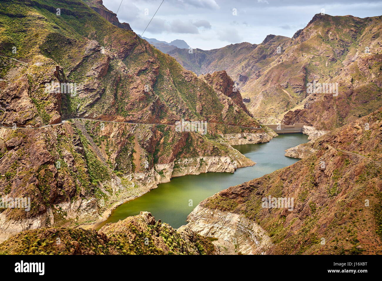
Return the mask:
[[[110,217],[97,226],[97,229],[107,223],[135,216],[140,211],[149,211],[156,220],[161,219],[163,223],[178,228],[187,223],[188,214],[207,197],[298,161],[296,158],[284,156],[284,150],[306,142],[307,135],[294,133],[279,135],[269,143],[235,145],[234,148],[257,164],[237,169],[235,173],[208,172],[172,178],[170,182],[159,184],[158,188],[115,208]],[[192,206],[189,206],[189,200],[192,200]]]

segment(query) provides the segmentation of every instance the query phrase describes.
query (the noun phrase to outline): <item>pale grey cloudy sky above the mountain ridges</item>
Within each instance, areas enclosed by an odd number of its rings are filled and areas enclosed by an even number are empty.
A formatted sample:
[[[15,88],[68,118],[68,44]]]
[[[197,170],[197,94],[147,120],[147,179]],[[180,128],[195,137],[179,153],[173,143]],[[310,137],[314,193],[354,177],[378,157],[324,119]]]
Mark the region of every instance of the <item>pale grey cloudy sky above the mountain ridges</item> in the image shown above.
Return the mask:
[[[162,0],[103,2],[114,13],[120,6],[120,22],[142,34]],[[167,42],[183,39],[204,50],[259,44],[268,34],[293,36],[322,11],[332,16],[380,16],[382,0],[164,0],[143,36]]]

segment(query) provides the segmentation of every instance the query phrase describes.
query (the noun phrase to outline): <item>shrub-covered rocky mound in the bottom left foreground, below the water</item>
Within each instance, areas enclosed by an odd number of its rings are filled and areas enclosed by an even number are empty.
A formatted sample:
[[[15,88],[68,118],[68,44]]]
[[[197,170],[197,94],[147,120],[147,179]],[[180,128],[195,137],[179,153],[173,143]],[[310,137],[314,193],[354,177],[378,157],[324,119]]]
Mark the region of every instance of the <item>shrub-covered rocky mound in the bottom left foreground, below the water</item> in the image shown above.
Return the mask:
[[[0,244],[8,255],[210,255],[214,245],[185,228],[176,231],[148,212],[107,224],[99,232],[81,228],[23,231]]]

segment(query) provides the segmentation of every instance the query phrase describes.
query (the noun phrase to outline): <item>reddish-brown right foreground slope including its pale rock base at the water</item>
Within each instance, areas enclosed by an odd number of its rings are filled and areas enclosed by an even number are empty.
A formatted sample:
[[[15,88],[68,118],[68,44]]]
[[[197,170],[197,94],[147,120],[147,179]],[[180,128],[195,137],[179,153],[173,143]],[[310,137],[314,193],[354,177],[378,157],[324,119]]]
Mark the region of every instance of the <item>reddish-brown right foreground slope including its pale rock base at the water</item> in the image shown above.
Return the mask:
[[[381,253],[382,108],[304,146],[301,161],[202,201],[188,226],[243,253]]]

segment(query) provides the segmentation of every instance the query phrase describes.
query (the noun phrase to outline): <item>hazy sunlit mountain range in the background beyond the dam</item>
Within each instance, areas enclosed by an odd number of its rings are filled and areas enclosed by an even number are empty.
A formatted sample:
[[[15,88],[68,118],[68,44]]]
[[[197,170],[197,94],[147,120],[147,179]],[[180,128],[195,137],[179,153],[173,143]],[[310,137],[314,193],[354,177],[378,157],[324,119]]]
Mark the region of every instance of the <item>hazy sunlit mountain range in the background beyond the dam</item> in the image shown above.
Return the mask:
[[[168,54],[198,75],[226,70],[261,122],[332,130],[382,106],[381,21],[317,14],[292,38]],[[313,81],[338,83],[338,96],[307,93]]]

